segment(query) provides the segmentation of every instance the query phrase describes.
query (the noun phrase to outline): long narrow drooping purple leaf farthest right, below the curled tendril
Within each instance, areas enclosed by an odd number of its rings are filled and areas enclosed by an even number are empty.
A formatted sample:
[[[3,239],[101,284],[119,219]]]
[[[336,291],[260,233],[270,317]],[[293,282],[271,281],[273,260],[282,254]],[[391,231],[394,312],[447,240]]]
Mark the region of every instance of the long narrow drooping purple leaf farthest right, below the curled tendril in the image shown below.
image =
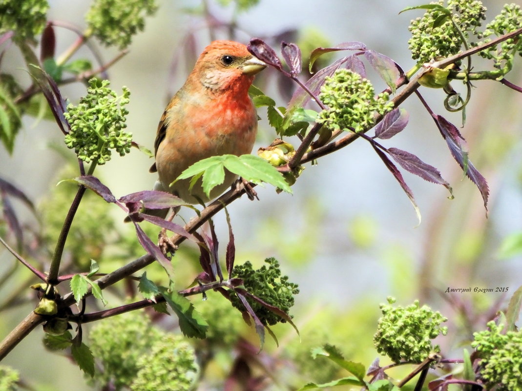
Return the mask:
[[[438,129],[441,131],[442,136],[446,140],[446,144],[448,145],[453,158],[457,161],[462,170],[464,170],[471,182],[473,182],[479,189],[484,201],[486,215],[488,215],[488,182],[468,159],[468,152],[465,150],[466,140],[460,135],[456,126],[448,122],[443,116],[434,115],[433,119],[435,120]]]

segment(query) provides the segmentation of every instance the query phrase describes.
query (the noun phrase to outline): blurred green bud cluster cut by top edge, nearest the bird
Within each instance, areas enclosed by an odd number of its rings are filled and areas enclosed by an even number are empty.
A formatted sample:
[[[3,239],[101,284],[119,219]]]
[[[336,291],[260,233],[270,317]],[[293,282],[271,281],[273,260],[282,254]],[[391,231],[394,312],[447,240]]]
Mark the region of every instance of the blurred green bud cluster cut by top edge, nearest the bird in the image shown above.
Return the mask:
[[[145,28],[145,16],[156,12],[155,0],[94,0],[87,13],[92,34],[107,46],[125,49]]]

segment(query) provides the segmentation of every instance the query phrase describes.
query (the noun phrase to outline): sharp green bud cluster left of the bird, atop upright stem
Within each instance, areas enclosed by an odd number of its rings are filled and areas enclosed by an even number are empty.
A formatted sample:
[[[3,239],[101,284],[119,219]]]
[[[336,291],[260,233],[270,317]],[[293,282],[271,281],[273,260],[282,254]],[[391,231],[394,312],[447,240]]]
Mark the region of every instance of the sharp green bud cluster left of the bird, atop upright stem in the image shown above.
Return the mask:
[[[117,97],[109,84],[109,80],[89,80],[87,96],[77,106],[67,105],[64,113],[71,127],[65,144],[87,163],[105,164],[111,160],[111,149],[120,156],[131,150],[132,134],[123,131],[131,92],[123,87],[123,95]]]

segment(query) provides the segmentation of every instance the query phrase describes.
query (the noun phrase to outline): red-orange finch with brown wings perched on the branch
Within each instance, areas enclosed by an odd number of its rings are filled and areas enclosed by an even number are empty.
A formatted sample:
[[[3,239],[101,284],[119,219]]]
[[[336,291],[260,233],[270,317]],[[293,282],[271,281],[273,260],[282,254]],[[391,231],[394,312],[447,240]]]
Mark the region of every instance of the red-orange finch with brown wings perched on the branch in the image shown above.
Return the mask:
[[[196,204],[216,198],[234,183],[237,175],[226,171],[223,183],[207,197],[201,180],[192,188],[190,179],[174,180],[202,159],[252,152],[258,116],[248,89],[266,66],[239,42],[213,41],[203,50],[158,124],[155,162],[149,170],[158,173],[155,190]]]

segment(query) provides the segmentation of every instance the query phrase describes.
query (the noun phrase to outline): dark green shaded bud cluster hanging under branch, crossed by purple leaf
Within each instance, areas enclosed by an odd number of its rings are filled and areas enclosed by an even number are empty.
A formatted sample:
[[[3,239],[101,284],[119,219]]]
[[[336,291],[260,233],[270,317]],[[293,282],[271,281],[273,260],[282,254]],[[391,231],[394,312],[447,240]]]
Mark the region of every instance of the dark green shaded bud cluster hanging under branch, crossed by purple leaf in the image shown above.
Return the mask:
[[[266,303],[278,307],[288,314],[294,304],[294,295],[299,293],[298,285],[289,282],[288,276],[281,276],[279,262],[275,258],[266,258],[261,268],[254,270],[249,261],[243,265],[236,265],[232,270],[232,277],[241,278],[245,289]],[[232,305],[243,310],[243,304],[235,293],[230,295]],[[257,301],[247,298],[248,303],[264,325],[275,325],[286,321],[279,315],[266,309]]]

